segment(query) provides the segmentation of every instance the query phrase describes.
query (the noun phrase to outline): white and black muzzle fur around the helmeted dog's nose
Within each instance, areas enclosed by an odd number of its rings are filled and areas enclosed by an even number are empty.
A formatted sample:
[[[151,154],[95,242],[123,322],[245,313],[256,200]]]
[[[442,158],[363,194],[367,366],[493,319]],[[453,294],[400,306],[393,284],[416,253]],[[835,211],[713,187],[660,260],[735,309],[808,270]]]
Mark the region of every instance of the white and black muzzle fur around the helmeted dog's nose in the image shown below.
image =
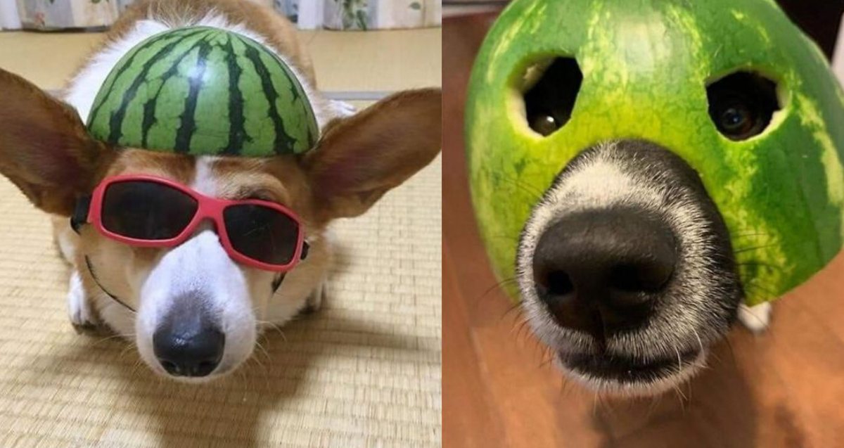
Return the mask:
[[[560,327],[539,299],[532,266],[538,240],[544,229],[565,213],[587,209],[637,207],[663,219],[679,241],[676,284],[646,327],[608,337],[603,349],[607,354],[633,359],[667,359],[675,353],[679,359],[680,353],[695,353],[695,360],[652,381],[619,382],[575,372],[557,358],[568,376],[592,390],[612,395],[654,395],[688,380],[704,366],[706,348],[728,332],[742,293],[734,267],[717,262],[725,254],[731,257],[732,249],[728,238],[725,241],[712,236],[721,230],[726,235],[726,227],[718,227],[722,221],[711,222],[712,213],[717,212],[713,212],[714,205],[702,191],[702,184],[697,188],[678,180],[678,173],[667,168],[677,163],[671,159],[676,157],[673,154],[635,154],[634,147],[620,148],[621,144],[631,143],[603,143],[587,149],[545,192],[522,231],[517,281],[528,324],[540,340],[557,353],[598,353],[592,337]],[[661,165],[662,157],[670,163]],[[711,208],[706,208],[706,203]],[[717,215],[715,220],[719,219]]]

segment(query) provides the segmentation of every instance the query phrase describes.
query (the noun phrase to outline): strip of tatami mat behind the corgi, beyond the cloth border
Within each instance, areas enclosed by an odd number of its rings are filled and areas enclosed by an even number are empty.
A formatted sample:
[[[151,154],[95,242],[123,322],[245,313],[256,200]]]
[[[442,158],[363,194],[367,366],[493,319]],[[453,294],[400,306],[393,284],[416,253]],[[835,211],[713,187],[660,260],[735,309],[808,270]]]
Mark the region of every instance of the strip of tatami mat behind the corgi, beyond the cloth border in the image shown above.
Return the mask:
[[[61,89],[101,39],[101,33],[0,32],[0,67],[41,89]],[[300,40],[323,90],[392,91],[441,84],[439,28],[302,31]]]

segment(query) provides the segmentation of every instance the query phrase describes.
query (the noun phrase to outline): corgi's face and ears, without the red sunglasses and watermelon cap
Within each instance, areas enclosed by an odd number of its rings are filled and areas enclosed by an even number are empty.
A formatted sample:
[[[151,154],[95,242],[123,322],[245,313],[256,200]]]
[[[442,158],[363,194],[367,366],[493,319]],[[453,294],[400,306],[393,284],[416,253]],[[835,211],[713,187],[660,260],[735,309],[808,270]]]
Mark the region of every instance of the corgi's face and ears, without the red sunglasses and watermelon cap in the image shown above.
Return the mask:
[[[279,275],[235,262],[210,221],[170,248],[128,246],[91,225],[79,229],[76,264],[90,270],[85,289],[103,299],[100,316],[133,335],[152,370],[189,381],[234,370],[252,354],[265,321],[300,311],[327,265],[327,224],[364,213],[440,150],[438,89],[396,94],[333,121],[306,154],[263,159],[113,148],[91,138],[72,107],[23,78],[0,70],[0,91],[0,173],[48,213],[69,218],[106,177],[154,175],[208,197],[277,202],[299,217],[311,253],[284,274],[274,299]],[[270,300],[285,300],[273,305],[273,316]]]

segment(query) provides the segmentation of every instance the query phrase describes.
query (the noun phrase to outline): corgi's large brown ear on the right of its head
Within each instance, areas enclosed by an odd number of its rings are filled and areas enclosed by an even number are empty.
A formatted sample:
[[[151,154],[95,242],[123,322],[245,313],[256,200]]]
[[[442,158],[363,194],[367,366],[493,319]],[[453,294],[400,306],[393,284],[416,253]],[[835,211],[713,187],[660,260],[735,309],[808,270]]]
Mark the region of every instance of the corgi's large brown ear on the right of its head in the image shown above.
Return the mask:
[[[322,219],[364,213],[440,153],[440,89],[408,90],[329,127],[304,159]]]

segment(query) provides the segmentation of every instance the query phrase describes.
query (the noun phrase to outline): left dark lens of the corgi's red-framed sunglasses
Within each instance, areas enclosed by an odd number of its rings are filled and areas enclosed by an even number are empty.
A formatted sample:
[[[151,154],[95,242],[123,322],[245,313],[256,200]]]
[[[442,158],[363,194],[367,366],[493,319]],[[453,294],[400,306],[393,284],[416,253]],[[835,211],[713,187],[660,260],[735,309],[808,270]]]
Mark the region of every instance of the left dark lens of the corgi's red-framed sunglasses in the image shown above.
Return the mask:
[[[195,199],[150,181],[116,182],[106,188],[102,224],[117,235],[138,240],[170,240],[191,223]]]

